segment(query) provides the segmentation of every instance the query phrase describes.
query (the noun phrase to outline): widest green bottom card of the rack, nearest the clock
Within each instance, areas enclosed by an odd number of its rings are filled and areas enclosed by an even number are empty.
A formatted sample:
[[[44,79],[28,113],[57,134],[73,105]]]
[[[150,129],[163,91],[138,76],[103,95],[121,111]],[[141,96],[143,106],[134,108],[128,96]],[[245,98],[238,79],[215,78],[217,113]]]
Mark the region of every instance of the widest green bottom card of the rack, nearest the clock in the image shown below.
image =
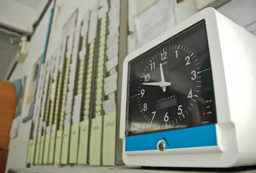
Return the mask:
[[[102,164],[115,165],[116,112],[104,115],[102,145]]]

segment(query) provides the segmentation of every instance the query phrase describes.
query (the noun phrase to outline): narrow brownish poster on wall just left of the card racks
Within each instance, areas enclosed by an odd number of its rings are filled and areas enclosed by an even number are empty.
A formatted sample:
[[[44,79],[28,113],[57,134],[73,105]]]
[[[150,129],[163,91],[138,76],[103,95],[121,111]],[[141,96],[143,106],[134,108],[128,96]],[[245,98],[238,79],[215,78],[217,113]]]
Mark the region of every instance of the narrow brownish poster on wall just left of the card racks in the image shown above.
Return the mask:
[[[28,93],[27,93],[27,98],[26,98],[26,104],[30,103],[36,94],[36,86],[37,86],[37,81],[39,77],[39,72],[40,72],[40,65],[41,65],[41,60],[42,60],[42,55],[38,57],[36,62],[33,65],[33,69],[30,75],[30,81],[28,84]]]

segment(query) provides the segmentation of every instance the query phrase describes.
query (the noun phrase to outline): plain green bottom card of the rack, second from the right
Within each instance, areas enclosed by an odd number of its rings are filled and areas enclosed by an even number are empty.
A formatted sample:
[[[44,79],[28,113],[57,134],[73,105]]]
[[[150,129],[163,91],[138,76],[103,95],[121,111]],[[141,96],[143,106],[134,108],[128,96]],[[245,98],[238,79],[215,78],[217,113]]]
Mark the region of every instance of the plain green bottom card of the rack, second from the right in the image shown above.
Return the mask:
[[[100,165],[102,116],[92,119],[90,134],[90,165]]]

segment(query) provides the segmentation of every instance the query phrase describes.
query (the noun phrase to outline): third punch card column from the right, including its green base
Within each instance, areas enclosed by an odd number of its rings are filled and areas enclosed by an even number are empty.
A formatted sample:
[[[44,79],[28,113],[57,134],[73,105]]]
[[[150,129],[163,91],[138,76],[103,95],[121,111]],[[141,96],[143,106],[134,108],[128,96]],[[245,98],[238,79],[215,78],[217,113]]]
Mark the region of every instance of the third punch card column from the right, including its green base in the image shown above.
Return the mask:
[[[79,72],[78,85],[76,87],[77,95],[74,98],[73,114],[80,115],[79,123],[79,142],[78,142],[78,164],[87,164],[87,149],[88,149],[88,127],[89,114],[85,114],[84,101],[86,99],[86,88],[91,86],[90,74],[88,75],[88,68],[92,66],[93,59],[89,59],[90,47],[88,44],[88,27],[89,27],[90,11],[86,11],[81,24],[81,44],[79,51]],[[91,51],[92,52],[92,51]],[[88,97],[88,95],[87,95]]]

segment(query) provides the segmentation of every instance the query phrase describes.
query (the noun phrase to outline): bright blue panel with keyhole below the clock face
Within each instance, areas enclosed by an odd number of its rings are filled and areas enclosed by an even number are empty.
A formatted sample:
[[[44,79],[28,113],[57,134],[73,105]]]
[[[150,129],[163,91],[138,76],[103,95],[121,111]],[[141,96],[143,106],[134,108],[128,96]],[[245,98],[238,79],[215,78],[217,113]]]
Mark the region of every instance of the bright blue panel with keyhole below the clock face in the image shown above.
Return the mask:
[[[216,146],[215,124],[157,132],[137,136],[128,136],[125,139],[125,151],[157,150],[157,143],[160,140],[167,140],[169,145],[166,149]],[[138,145],[138,141],[140,145]]]

